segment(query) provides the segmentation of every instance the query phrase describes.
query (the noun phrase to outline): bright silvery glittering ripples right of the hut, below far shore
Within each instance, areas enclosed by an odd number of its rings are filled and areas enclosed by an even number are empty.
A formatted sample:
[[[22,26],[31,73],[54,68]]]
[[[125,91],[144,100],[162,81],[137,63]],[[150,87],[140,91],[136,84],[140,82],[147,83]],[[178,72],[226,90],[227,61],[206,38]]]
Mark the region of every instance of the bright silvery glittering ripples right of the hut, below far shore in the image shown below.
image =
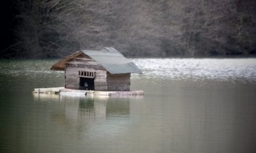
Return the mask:
[[[134,59],[144,78],[256,81],[256,59]],[[134,78],[140,75],[133,75]]]

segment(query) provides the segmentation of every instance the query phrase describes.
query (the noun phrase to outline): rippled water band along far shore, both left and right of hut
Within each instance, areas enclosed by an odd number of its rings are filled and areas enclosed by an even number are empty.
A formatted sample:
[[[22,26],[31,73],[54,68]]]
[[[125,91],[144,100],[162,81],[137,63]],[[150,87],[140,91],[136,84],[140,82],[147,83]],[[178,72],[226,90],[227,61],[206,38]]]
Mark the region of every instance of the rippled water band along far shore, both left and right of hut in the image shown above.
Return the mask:
[[[63,71],[49,68],[57,60],[2,60],[0,75],[27,78],[63,78]],[[133,59],[143,79],[217,79],[220,81],[256,81],[256,59]]]

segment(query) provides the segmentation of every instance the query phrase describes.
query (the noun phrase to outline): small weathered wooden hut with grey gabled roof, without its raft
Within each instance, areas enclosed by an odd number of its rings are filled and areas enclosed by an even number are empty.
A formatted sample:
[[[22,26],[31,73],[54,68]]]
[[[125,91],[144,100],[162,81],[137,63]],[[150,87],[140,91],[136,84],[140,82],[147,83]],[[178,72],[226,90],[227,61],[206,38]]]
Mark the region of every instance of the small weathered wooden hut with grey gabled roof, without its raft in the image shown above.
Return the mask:
[[[65,88],[79,90],[129,91],[130,74],[141,70],[114,48],[80,50],[52,65],[65,71]]]

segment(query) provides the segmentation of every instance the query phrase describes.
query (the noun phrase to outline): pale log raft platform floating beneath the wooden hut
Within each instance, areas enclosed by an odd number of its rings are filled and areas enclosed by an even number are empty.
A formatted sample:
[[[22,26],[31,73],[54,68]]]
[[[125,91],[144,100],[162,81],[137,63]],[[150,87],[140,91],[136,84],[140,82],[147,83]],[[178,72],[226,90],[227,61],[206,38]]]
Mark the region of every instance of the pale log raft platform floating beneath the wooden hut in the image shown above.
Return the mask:
[[[75,90],[66,89],[64,87],[56,88],[35,88],[33,93],[47,93],[47,94],[65,94],[65,95],[84,95],[84,96],[107,96],[107,97],[123,97],[123,96],[141,96],[144,95],[143,90],[134,91],[98,91],[98,90]]]

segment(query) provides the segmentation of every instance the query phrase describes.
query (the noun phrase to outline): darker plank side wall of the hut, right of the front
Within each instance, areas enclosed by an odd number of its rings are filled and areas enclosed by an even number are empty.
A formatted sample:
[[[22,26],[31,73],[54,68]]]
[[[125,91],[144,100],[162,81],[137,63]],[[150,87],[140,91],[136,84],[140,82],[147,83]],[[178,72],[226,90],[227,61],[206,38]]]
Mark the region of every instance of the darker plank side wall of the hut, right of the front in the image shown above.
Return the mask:
[[[130,90],[130,74],[110,74],[107,72],[106,82],[109,91]]]

